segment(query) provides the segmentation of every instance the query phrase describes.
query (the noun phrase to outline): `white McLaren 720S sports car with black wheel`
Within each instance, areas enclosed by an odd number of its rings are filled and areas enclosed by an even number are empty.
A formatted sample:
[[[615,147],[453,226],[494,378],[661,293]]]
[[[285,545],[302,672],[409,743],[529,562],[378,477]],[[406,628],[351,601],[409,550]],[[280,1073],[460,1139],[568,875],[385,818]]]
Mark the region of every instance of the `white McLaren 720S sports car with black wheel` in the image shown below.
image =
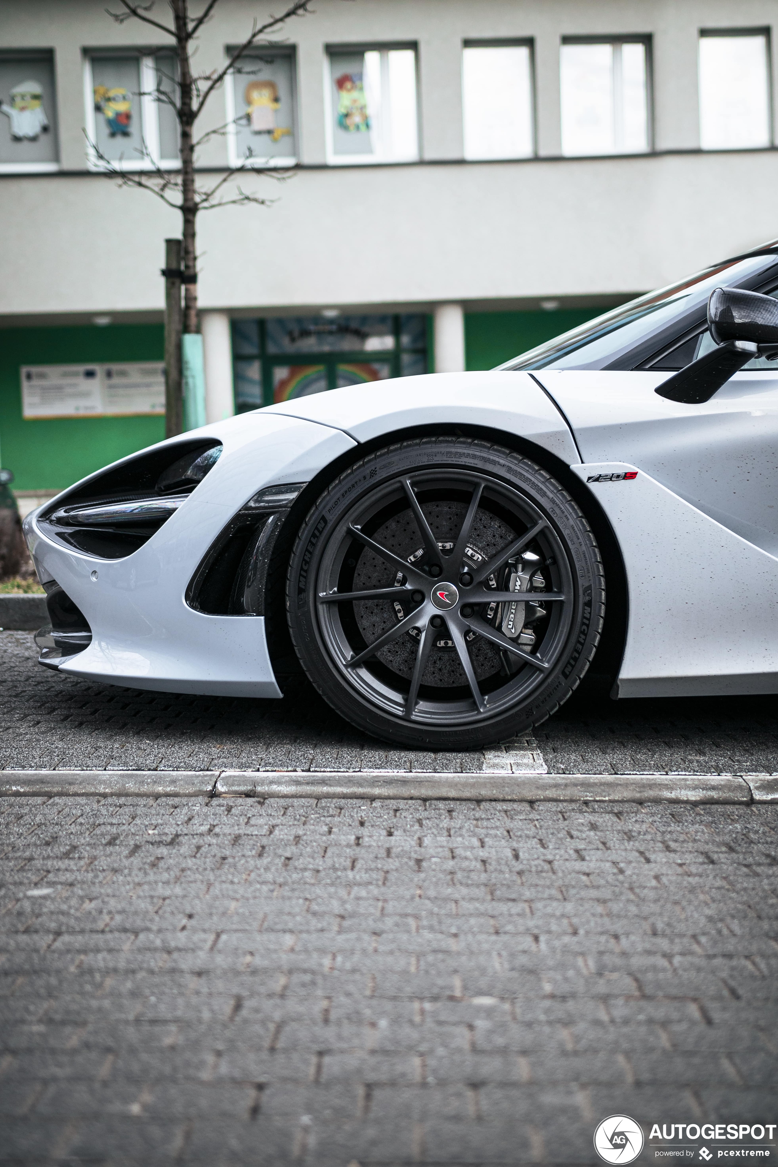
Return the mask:
[[[337,389],[92,474],[24,533],[41,664],[469,749],[778,692],[778,242],[484,372]],[[772,511],[772,515],[769,513]]]

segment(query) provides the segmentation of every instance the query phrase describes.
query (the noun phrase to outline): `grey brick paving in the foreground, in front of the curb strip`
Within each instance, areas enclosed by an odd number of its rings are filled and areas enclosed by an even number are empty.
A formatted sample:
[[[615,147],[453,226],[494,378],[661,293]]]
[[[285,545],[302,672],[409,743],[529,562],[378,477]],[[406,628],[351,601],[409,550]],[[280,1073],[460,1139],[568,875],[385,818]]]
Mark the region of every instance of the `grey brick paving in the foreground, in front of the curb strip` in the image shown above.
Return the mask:
[[[615,1112],[775,1123],[777,830],[2,799],[0,1161],[590,1163]]]

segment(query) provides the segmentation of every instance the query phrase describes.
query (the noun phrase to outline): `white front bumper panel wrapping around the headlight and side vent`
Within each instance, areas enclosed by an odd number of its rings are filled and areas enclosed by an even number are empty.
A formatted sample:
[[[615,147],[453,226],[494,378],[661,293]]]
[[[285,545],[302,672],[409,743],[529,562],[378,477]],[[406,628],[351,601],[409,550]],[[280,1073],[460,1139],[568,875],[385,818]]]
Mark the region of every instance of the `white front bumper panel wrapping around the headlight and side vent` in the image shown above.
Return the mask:
[[[96,559],[64,547],[41,532],[37,512],[27,517],[41,580],[56,579],[92,629],[90,647],[59,669],[136,689],[280,697],[264,617],[204,615],[185,603],[184,592],[208,547],[257,490],[309,481],[355,442],[338,429],[267,412],[216,422],[197,435],[218,438],[222,457],[195,494],[126,559]]]

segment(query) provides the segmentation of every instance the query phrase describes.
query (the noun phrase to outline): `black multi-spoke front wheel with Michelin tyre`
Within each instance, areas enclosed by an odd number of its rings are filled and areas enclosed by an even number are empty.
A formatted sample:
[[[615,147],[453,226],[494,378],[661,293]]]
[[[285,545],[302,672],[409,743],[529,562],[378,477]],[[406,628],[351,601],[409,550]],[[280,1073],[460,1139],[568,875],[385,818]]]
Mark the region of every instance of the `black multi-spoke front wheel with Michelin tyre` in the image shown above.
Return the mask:
[[[356,463],[306,519],[289,628],[369,733],[475,748],[542,721],[594,656],[604,580],[567,491],[525,457],[423,439]]]

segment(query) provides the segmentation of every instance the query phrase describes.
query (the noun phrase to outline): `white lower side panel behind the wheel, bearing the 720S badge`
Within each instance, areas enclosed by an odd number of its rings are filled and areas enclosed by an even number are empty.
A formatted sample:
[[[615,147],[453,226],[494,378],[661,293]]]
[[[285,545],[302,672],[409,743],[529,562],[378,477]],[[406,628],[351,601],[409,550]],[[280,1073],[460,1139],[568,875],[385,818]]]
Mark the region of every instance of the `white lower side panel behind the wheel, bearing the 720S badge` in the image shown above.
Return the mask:
[[[589,462],[583,482],[638,467]],[[778,559],[638,469],[589,487],[619,541],[629,623],[618,697],[778,692]]]

